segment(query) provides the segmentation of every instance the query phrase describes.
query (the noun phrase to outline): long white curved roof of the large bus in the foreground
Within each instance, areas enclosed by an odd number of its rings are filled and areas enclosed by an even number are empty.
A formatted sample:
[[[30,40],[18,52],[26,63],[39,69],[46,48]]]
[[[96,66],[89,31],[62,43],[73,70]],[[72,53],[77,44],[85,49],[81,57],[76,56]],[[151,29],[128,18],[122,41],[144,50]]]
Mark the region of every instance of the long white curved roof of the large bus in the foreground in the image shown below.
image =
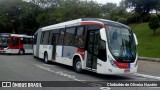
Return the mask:
[[[42,31],[64,28],[64,27],[69,27],[69,26],[76,26],[76,25],[80,25],[81,22],[85,22],[85,21],[98,22],[98,23],[103,23],[105,25],[112,25],[112,26],[130,29],[127,25],[124,25],[119,22],[111,21],[111,20],[100,19],[100,18],[80,18],[80,19],[76,19],[76,20],[71,20],[71,21],[67,21],[67,22],[62,22],[62,23],[42,27]]]

